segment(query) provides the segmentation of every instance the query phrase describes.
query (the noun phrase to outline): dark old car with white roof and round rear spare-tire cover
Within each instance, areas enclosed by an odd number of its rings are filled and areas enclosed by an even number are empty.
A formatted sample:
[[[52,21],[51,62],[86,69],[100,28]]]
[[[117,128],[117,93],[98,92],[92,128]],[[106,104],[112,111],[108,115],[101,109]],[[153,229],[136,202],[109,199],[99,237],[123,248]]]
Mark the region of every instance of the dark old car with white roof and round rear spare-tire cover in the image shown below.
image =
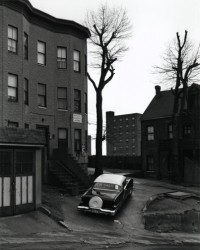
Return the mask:
[[[133,179],[119,174],[102,174],[82,195],[78,210],[115,215],[132,195]]]

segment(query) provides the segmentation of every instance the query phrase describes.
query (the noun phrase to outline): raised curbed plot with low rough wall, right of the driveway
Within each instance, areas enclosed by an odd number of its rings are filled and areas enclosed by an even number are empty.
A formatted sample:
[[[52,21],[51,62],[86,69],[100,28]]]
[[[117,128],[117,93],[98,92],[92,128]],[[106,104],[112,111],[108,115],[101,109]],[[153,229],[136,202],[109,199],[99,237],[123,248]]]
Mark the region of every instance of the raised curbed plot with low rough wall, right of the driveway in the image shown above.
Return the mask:
[[[143,222],[156,232],[200,232],[200,197],[185,192],[153,196],[143,209]]]

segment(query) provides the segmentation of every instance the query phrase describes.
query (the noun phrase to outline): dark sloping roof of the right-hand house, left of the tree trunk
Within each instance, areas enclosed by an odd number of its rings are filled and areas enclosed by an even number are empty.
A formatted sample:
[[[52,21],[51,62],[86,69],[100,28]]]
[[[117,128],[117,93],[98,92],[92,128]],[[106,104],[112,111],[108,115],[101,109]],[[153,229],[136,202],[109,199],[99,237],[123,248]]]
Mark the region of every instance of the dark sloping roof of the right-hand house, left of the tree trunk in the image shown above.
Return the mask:
[[[147,109],[144,111],[141,120],[171,117],[173,114],[174,95],[171,90],[161,91],[155,95]]]

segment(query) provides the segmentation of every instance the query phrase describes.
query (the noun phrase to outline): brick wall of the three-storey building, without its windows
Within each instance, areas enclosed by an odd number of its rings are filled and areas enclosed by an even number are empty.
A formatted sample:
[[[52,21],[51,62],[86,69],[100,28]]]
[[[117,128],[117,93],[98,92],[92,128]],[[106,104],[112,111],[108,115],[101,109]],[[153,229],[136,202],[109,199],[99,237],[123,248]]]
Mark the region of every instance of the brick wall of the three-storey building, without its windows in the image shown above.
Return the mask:
[[[87,54],[86,38],[75,37],[66,32],[55,33],[30,23],[21,13],[0,6],[0,126],[7,126],[8,121],[18,122],[20,128],[29,124],[30,129],[36,125],[49,126],[50,148],[57,147],[58,128],[68,129],[68,145],[74,148],[74,129],[82,130],[82,142],[85,144],[87,130],[87,115],[84,111],[84,93],[87,93],[87,78],[85,75],[85,55]],[[7,27],[12,25],[18,29],[18,53],[11,54],[7,50]],[[67,29],[67,27],[66,27]],[[23,35],[28,34],[28,61],[23,59]],[[46,65],[37,64],[37,42],[46,43]],[[57,46],[67,47],[67,69],[57,69]],[[73,71],[73,50],[81,53],[81,73]],[[2,54],[1,54],[2,53]],[[18,75],[18,102],[8,102],[8,73]],[[29,105],[23,103],[23,81],[29,80]],[[46,84],[47,108],[37,105],[37,84]],[[67,87],[68,110],[57,110],[57,87]],[[83,122],[73,123],[74,88],[81,90]]]

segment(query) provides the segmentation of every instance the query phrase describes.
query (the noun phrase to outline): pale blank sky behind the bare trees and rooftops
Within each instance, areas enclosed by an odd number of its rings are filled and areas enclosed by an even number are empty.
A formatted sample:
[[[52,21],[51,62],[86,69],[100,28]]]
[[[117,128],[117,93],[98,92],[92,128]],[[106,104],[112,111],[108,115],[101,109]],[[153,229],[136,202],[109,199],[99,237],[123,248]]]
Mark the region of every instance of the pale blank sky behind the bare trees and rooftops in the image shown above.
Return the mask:
[[[200,44],[200,0],[29,0],[33,7],[57,18],[83,24],[87,11],[95,11],[102,3],[123,7],[132,24],[129,51],[116,63],[115,76],[103,90],[104,126],[106,111],[115,115],[143,113],[155,94],[155,85],[162,85],[153,67],[162,63],[162,56],[179,32],[196,46]],[[90,57],[90,55],[88,55]],[[90,69],[89,69],[90,70]],[[95,141],[96,99],[88,81],[88,132]],[[104,147],[105,150],[105,147]],[[105,152],[104,152],[105,153]]]

